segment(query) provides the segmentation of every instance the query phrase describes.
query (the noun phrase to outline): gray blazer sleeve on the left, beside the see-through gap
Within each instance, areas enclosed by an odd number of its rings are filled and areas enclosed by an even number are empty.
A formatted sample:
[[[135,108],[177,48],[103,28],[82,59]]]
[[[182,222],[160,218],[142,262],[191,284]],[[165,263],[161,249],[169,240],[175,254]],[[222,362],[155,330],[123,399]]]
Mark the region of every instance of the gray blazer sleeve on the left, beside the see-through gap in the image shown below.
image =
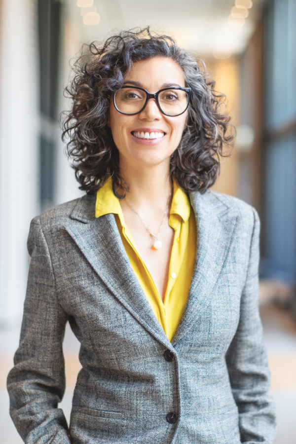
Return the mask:
[[[52,262],[40,219],[31,222],[31,256],[20,344],[7,378],[10,415],[27,444],[70,444],[63,410],[63,338],[68,319],[56,292]]]

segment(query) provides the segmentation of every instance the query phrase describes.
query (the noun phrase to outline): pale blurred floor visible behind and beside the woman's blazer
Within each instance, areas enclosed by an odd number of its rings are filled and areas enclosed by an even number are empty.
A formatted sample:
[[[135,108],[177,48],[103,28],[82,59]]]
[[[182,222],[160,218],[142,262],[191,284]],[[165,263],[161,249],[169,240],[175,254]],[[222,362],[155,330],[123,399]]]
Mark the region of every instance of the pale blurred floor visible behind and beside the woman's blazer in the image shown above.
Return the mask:
[[[296,444],[296,319],[275,305],[261,308],[264,340],[271,370],[271,394],[275,399],[278,432],[275,444]],[[0,331],[0,433],[1,444],[21,444],[8,412],[6,375],[12,367],[13,352],[17,348],[19,329]],[[69,421],[72,393],[80,364],[77,359],[78,342],[67,327],[64,352],[66,360],[66,393],[60,407]]]

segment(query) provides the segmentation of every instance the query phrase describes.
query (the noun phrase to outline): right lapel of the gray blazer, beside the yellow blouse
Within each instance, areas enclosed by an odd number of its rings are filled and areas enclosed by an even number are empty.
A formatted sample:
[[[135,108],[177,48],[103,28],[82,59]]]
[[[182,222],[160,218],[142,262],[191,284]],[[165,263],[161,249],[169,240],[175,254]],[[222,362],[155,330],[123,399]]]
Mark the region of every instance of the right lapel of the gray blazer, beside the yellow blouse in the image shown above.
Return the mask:
[[[213,192],[193,192],[190,197],[197,221],[197,254],[187,303],[173,345],[196,326],[207,308],[237,221],[237,215]]]

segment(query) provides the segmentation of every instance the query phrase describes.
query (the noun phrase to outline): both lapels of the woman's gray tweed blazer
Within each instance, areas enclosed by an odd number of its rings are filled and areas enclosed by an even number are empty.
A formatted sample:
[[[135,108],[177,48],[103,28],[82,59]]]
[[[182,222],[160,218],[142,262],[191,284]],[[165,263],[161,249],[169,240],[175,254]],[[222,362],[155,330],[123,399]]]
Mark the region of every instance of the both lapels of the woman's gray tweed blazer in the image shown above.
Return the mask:
[[[172,341],[188,333],[207,308],[231,245],[237,215],[213,192],[190,195],[197,221],[197,254],[184,314]],[[95,217],[95,196],[81,198],[66,224],[85,258],[131,315],[167,348],[172,346],[133,272],[112,214]]]

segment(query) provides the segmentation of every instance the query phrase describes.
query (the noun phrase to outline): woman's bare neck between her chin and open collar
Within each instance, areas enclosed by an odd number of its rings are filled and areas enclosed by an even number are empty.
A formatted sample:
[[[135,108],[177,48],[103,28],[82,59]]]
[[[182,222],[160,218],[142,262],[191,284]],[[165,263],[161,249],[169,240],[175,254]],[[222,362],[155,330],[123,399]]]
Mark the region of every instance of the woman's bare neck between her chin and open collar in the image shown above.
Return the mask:
[[[120,165],[120,171],[129,187],[126,197],[137,209],[165,209],[172,190],[169,162],[144,168]]]

